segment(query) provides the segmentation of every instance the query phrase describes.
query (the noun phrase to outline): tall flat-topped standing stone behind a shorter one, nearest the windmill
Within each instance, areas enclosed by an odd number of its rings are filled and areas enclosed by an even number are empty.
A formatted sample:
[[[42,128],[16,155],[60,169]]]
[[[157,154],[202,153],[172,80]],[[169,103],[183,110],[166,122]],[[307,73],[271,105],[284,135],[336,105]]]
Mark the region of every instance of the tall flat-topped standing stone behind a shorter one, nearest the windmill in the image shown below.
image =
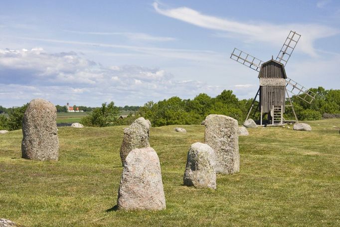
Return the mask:
[[[204,141],[215,152],[216,173],[233,174],[240,170],[237,120],[210,114],[205,118]]]

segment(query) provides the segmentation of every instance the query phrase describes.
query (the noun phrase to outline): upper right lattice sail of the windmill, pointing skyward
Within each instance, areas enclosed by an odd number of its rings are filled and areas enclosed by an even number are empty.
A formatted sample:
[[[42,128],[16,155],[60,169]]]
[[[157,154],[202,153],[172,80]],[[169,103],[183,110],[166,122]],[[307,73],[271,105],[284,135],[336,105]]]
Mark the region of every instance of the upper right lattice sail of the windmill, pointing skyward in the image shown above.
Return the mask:
[[[285,43],[283,44],[279,54],[276,57],[276,61],[283,63],[286,66],[287,61],[291,57],[293,50],[295,49],[296,44],[298,43],[301,35],[296,33],[295,31],[289,32],[288,37],[286,38]]]

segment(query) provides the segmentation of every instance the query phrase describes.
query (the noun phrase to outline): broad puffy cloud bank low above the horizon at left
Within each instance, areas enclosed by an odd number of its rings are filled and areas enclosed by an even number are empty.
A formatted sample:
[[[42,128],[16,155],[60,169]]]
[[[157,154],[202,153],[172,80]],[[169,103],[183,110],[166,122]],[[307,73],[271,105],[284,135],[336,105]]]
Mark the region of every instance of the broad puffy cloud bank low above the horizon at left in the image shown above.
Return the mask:
[[[106,67],[74,52],[48,53],[43,49],[0,49],[0,78],[0,103],[7,107],[38,97],[54,104],[99,106],[114,100],[117,105],[143,105],[175,95],[192,98],[201,92],[217,95],[223,90],[199,81],[175,80],[163,69]]]

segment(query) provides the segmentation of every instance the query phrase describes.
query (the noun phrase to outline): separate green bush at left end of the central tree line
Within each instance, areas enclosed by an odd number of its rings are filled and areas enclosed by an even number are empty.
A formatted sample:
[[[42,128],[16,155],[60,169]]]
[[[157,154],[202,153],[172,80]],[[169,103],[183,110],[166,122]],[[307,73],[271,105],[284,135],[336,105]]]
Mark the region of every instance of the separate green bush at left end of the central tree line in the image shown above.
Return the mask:
[[[114,124],[119,113],[114,102],[103,103],[101,107],[95,108],[88,116],[81,119],[81,124],[92,127],[105,127]]]

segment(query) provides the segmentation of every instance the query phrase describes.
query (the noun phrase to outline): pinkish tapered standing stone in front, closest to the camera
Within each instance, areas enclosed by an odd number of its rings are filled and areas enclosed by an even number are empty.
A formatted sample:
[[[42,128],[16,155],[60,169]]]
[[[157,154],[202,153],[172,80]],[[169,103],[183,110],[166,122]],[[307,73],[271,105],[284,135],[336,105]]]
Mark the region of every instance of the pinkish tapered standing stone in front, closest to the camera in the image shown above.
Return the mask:
[[[134,149],[126,157],[117,205],[122,210],[166,209],[160,160],[153,148]]]

